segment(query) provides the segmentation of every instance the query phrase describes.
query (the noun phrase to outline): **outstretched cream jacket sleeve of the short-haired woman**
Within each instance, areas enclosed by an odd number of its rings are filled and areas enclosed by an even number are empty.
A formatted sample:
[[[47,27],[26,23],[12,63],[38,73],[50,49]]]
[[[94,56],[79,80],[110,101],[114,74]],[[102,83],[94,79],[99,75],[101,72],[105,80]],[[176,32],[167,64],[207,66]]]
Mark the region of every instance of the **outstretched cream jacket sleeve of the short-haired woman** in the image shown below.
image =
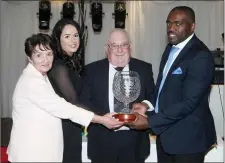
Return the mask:
[[[64,98],[59,97],[51,88],[50,83],[39,78],[34,78],[29,83],[26,98],[40,109],[52,116],[70,119],[83,126],[90,124],[94,113],[72,105]]]

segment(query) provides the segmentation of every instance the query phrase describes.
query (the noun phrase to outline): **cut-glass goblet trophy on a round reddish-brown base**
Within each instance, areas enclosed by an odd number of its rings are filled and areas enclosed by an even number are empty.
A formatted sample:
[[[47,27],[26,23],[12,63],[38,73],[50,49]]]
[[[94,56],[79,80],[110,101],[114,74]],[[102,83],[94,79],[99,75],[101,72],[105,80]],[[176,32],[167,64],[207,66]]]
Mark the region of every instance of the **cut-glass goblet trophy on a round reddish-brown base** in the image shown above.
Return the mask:
[[[131,113],[129,103],[135,101],[140,95],[141,83],[137,72],[116,72],[113,80],[114,97],[124,104],[124,108],[114,117],[119,121],[131,123],[136,120],[135,114]]]

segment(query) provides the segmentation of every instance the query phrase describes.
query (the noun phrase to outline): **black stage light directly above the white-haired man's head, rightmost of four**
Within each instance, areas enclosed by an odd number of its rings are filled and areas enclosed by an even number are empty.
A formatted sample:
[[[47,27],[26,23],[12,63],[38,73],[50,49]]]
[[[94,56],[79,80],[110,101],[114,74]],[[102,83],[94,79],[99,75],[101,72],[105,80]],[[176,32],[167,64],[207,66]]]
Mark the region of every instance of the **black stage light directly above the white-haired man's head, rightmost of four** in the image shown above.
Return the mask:
[[[128,16],[126,13],[126,2],[115,2],[114,4],[115,28],[125,28],[125,19]]]

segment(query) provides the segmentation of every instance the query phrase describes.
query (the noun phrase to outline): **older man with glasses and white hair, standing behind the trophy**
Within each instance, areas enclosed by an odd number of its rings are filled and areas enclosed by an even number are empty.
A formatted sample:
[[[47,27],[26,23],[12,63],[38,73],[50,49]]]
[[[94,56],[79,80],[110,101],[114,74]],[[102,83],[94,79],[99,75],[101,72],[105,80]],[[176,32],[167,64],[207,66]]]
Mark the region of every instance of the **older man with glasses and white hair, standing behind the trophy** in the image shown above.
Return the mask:
[[[106,59],[85,66],[81,101],[96,114],[114,111],[112,91],[116,67],[139,74],[141,91],[135,102],[153,102],[154,80],[152,65],[131,58],[131,45],[126,31],[115,29],[105,45]],[[88,128],[88,157],[92,163],[144,163],[150,153],[149,135],[128,127],[109,130],[101,125]]]

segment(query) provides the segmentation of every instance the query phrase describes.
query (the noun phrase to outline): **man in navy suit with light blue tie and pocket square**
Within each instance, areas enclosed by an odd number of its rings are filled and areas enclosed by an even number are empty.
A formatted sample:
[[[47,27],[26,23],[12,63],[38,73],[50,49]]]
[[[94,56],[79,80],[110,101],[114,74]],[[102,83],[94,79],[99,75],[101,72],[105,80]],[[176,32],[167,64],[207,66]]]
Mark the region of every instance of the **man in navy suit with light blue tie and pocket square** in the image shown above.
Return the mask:
[[[157,135],[159,163],[202,163],[216,143],[208,97],[213,58],[194,34],[195,14],[187,6],[173,8],[167,17],[167,45],[156,83],[155,112],[138,115],[136,129],[151,128]],[[145,113],[147,103],[133,105]]]

